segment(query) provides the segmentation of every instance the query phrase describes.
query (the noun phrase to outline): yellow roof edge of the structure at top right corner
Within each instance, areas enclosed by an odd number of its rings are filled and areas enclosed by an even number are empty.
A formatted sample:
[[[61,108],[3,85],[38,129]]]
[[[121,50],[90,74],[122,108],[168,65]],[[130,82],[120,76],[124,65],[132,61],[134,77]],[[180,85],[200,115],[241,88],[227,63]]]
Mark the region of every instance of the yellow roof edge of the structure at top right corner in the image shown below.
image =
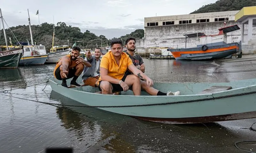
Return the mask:
[[[256,6],[243,7],[236,13],[235,22],[241,22],[248,16],[256,16]]]

